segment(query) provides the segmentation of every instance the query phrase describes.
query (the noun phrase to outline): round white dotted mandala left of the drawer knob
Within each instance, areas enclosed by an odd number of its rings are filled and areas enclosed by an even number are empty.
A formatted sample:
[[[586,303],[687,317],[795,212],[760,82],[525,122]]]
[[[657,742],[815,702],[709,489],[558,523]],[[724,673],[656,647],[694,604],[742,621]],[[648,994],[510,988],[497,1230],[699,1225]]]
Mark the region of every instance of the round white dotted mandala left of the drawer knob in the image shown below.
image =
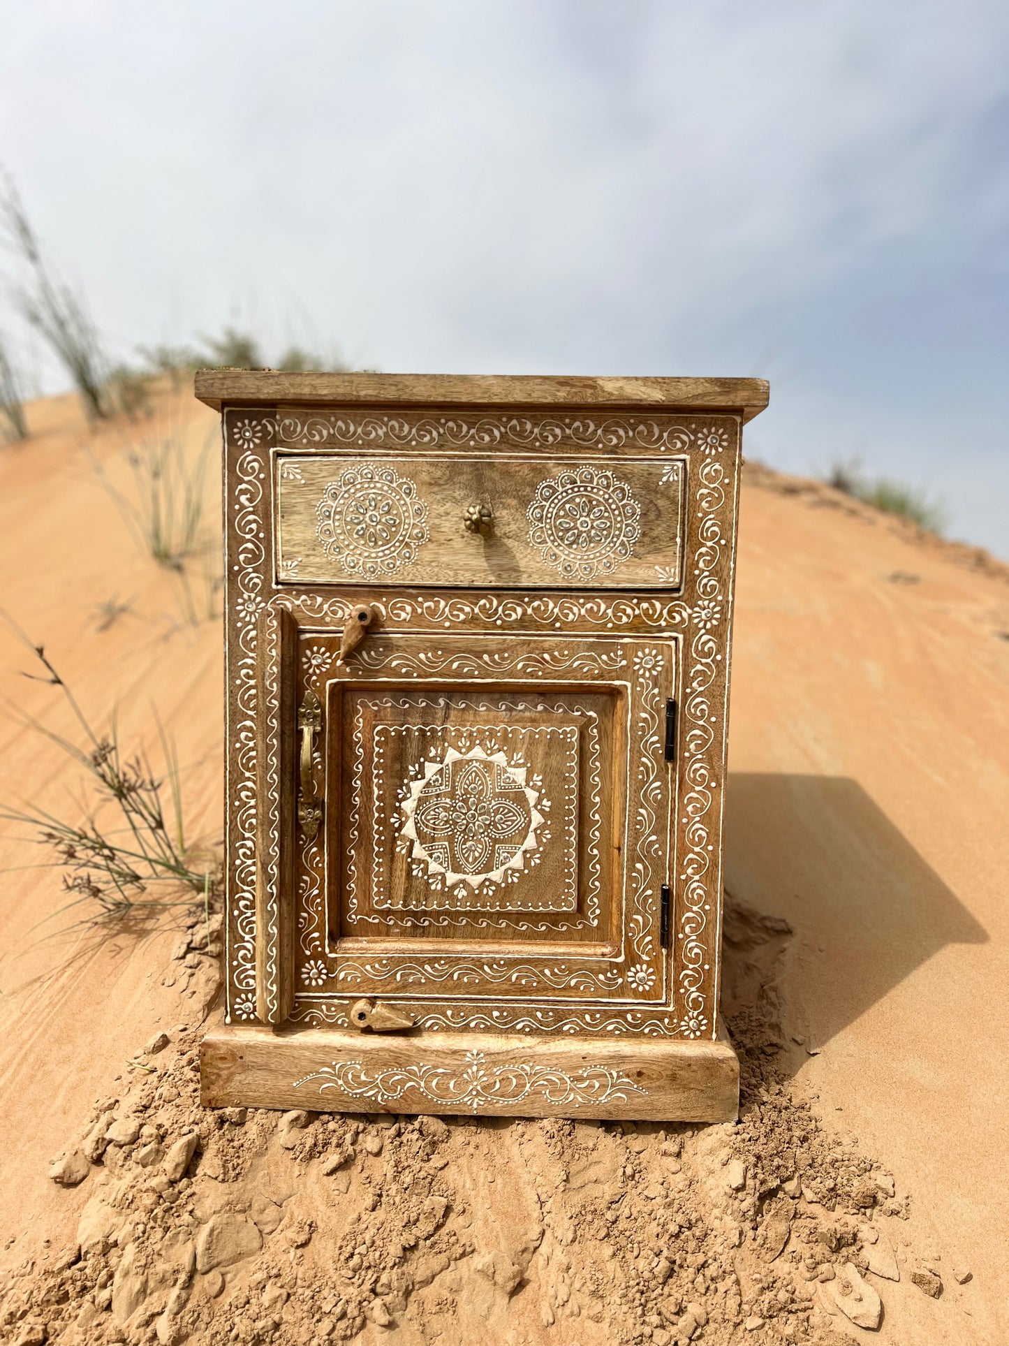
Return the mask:
[[[357,463],[330,482],[315,509],[316,536],[347,575],[385,576],[412,565],[428,541],[428,506],[409,476]]]

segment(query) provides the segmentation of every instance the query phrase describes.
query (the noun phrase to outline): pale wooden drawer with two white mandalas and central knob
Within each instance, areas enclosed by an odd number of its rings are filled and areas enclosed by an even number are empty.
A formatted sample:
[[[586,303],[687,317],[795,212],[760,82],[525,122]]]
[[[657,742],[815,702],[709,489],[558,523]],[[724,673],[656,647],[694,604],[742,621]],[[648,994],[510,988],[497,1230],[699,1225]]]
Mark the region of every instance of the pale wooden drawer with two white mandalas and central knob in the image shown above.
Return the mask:
[[[273,471],[278,584],[682,583],[685,458],[274,452]]]

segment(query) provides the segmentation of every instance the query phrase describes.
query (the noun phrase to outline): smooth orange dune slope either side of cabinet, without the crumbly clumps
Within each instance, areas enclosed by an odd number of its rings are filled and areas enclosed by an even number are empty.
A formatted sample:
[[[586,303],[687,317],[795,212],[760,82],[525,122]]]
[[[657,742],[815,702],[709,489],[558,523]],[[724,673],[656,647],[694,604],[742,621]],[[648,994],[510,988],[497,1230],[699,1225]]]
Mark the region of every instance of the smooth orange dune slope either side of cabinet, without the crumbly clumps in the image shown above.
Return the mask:
[[[179,742],[191,825],[213,835],[219,626],[187,623],[178,584],[137,552],[83,451],[125,482],[125,439],[155,427],[93,437],[69,398],[32,417],[36,439],[0,455],[4,606],[96,717],[118,705],[124,738],[152,742],[157,705]],[[186,398],[163,400],[159,417],[194,448],[214,429]],[[900,1346],[1009,1339],[998,1032],[1009,989],[1009,584],[969,560],[826,490],[748,472],[726,883],[795,930],[783,983],[788,1032],[803,1039],[788,1049],[795,1088],[818,1094],[826,1124],[854,1129],[912,1193],[908,1237],[974,1273],[962,1288],[944,1276],[938,1302],[907,1277],[887,1287],[876,1339]],[[96,606],[114,594],[133,599],[132,612],[100,631]],[[3,695],[69,728],[52,689],[17,676],[27,656],[0,639]],[[0,744],[5,795],[66,800],[75,773],[36,735],[8,720]],[[4,845],[3,864],[27,859]],[[87,1195],[89,1183],[54,1187],[48,1158],[183,1011],[160,985],[171,930],[39,942],[31,927],[63,900],[55,876],[8,872],[3,891],[0,1236],[15,1234],[11,1256],[26,1257],[46,1237],[66,1242]],[[482,1171],[507,1178],[514,1140],[491,1129],[484,1148]],[[539,1331],[529,1341],[549,1339]]]

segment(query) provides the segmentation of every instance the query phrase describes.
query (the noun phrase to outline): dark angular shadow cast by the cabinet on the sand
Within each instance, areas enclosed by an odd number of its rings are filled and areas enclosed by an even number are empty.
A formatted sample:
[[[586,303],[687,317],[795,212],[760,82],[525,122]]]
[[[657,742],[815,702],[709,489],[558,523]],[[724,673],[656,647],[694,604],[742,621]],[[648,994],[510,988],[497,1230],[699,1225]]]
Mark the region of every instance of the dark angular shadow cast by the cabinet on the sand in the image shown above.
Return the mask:
[[[790,945],[788,1031],[823,1046],[950,944],[987,933],[862,787],[844,777],[731,773],[725,888]],[[779,969],[763,962],[768,980]],[[728,1007],[726,1007],[728,1008]]]

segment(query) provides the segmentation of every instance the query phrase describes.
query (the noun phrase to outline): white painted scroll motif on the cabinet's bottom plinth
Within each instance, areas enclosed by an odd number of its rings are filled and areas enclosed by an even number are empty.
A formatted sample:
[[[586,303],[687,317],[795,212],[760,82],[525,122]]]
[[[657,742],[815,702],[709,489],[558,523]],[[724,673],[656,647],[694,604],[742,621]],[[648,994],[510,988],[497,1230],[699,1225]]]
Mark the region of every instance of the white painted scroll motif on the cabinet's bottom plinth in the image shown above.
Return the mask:
[[[626,1102],[632,1093],[648,1092],[609,1066],[585,1066],[573,1073],[529,1062],[491,1066],[483,1051],[467,1051],[463,1070],[424,1063],[369,1070],[362,1061],[334,1061],[296,1079],[293,1088],[307,1084],[316,1084],[320,1094],[332,1089],[347,1098],[383,1106],[402,1100],[422,1100],[472,1112],[526,1098],[556,1108],[591,1108]]]

